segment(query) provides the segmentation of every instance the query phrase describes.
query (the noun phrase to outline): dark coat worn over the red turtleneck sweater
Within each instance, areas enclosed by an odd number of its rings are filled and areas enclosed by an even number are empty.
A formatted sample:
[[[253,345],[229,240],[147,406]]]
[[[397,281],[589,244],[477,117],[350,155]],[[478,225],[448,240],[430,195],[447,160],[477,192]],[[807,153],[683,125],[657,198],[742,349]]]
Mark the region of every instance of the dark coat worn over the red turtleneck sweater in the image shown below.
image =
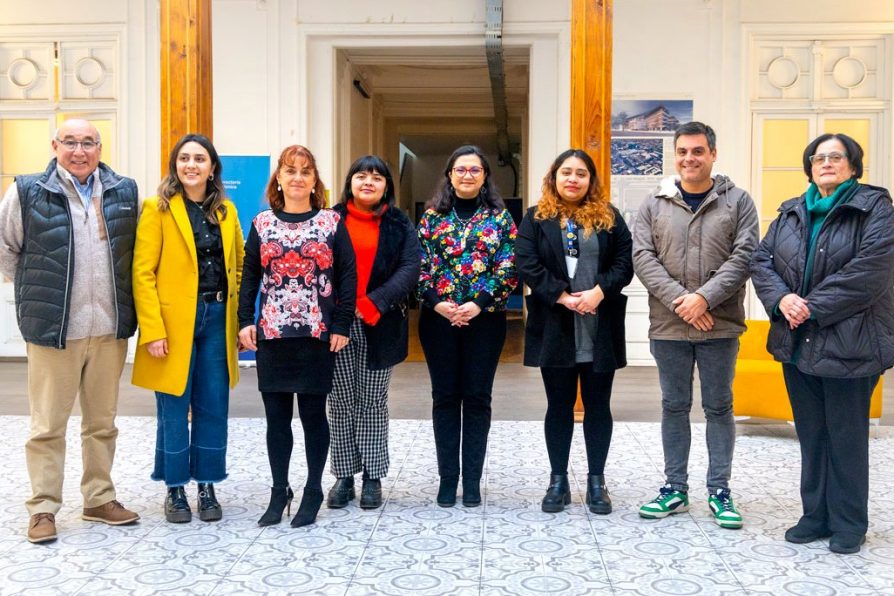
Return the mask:
[[[347,217],[344,204],[333,209]],[[407,298],[419,281],[420,254],[410,219],[396,206],[389,206],[382,214],[379,245],[366,286],[367,297],[382,315],[375,325],[363,325],[370,370],[394,366],[407,357]]]

